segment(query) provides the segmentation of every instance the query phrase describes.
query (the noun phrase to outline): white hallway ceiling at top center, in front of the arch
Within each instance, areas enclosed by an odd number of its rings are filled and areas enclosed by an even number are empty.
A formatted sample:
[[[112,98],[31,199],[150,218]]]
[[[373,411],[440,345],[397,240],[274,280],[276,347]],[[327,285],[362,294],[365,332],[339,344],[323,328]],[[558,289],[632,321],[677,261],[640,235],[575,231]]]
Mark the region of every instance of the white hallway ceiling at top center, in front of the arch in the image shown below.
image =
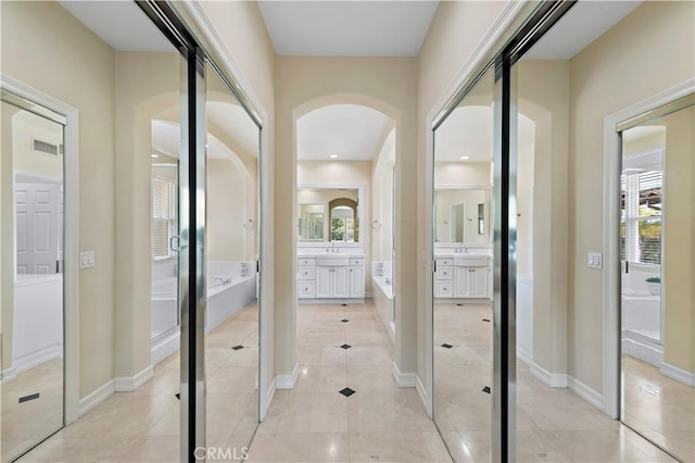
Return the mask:
[[[278,54],[416,57],[439,2],[261,1]]]

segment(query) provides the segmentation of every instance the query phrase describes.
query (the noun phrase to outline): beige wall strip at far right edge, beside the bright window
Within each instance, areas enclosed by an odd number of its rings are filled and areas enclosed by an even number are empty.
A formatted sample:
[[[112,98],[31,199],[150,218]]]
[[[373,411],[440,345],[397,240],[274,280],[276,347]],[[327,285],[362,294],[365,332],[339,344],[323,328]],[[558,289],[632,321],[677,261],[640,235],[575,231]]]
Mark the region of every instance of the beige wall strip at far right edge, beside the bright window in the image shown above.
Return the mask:
[[[664,362],[695,373],[695,108],[661,120],[664,159]]]

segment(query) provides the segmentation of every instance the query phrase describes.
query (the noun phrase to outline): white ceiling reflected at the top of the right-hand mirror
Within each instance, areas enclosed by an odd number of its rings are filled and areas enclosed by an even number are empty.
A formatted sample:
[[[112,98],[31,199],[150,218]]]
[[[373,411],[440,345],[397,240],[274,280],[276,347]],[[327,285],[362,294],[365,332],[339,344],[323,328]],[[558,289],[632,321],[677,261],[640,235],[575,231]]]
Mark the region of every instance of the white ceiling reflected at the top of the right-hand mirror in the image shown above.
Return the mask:
[[[569,60],[626,17],[642,1],[579,1],[525,59]]]

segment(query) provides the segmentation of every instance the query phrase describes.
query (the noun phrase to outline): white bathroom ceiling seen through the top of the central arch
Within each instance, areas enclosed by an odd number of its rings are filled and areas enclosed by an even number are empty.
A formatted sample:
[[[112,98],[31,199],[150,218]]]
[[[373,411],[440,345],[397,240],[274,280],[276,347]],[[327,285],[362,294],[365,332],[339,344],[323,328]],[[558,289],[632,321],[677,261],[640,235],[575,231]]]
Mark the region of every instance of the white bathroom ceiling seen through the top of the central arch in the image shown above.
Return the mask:
[[[301,161],[370,161],[381,150],[393,121],[358,104],[319,108],[296,121],[296,157]]]

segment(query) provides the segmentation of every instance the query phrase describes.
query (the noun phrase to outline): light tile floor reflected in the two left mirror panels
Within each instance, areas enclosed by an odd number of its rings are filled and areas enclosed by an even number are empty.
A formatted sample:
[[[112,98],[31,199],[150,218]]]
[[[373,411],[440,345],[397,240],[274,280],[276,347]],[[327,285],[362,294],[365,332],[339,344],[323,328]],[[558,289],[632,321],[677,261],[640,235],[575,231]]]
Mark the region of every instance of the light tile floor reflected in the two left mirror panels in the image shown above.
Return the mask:
[[[206,337],[206,445],[238,449],[226,461],[242,455],[257,427],[257,320],[256,306],[250,305]],[[112,395],[20,462],[178,462],[179,384],[175,353],[155,366],[152,380],[134,392]]]

